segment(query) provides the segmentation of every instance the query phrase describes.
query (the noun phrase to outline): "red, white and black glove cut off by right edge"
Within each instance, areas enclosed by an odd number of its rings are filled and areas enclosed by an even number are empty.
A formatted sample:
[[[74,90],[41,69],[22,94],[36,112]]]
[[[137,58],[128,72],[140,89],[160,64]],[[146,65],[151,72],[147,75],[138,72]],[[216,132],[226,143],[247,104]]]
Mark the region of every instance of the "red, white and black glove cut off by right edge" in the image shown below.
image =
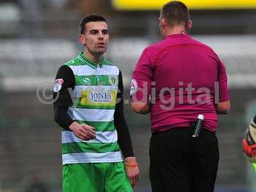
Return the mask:
[[[252,163],[256,173],[256,115],[245,131],[243,139],[243,151],[248,161]]]

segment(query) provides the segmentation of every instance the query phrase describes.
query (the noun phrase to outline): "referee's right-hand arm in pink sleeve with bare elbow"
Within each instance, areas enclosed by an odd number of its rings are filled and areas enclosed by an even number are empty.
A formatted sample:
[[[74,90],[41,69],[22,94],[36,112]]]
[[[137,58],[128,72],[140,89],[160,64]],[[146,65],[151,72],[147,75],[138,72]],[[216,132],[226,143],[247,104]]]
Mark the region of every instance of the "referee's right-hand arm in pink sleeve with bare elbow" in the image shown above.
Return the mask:
[[[218,67],[218,96],[219,102],[215,104],[216,113],[218,114],[227,114],[230,110],[230,100],[228,95],[228,85],[227,85],[227,72],[225,65],[217,57],[219,67]]]

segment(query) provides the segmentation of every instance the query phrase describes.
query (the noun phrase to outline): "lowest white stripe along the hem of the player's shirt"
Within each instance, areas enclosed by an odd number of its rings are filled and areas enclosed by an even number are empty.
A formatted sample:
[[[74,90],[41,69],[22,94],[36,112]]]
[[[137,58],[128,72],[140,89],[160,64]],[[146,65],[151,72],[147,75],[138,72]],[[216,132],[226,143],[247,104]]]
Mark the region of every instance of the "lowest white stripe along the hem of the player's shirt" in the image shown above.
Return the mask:
[[[121,152],[63,154],[62,163],[113,163],[123,161]]]

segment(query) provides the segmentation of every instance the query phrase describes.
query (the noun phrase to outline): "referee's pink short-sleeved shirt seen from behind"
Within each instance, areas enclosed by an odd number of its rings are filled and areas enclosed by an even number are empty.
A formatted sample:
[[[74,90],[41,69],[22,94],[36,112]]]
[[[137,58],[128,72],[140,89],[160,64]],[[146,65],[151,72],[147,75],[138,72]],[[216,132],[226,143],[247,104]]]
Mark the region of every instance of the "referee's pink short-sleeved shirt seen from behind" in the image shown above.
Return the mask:
[[[203,127],[216,132],[214,102],[229,100],[220,58],[185,34],[167,36],[141,54],[132,74],[132,100],[147,102],[150,92],[153,102],[156,95],[150,112],[152,133],[189,127],[199,114],[204,115]]]

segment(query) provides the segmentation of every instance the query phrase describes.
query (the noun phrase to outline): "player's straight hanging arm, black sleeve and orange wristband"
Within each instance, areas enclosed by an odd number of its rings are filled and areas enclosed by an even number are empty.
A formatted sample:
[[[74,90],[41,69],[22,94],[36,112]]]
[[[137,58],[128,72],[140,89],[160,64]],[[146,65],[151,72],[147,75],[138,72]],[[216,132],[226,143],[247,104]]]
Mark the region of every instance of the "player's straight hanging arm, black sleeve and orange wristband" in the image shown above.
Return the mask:
[[[138,170],[138,164],[136,158],[134,157],[134,152],[132,148],[131,136],[127,123],[124,117],[124,99],[123,99],[123,80],[122,73],[119,72],[119,82],[118,82],[118,93],[117,93],[117,103],[114,113],[114,124],[118,134],[118,144],[122,150],[122,154],[125,158],[125,169],[127,177],[129,178],[132,186],[138,182],[140,172]]]

